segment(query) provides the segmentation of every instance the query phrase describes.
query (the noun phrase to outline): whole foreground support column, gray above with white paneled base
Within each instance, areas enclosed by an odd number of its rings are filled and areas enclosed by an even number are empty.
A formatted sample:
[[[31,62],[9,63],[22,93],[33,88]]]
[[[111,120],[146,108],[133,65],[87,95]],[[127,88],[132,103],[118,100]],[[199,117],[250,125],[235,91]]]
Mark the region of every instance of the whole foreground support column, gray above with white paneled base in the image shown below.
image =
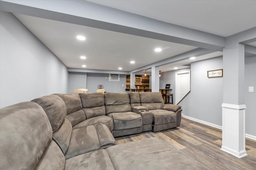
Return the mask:
[[[221,150],[246,156],[244,105],[244,45],[227,37],[223,49],[223,104]]]

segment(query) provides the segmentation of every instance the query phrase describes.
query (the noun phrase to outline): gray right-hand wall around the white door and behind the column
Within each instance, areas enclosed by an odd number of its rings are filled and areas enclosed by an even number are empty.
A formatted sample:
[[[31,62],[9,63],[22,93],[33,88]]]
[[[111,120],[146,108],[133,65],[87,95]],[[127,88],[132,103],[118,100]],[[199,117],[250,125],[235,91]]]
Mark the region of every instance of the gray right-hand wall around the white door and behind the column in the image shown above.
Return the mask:
[[[223,82],[222,78],[207,78],[207,70],[222,68],[222,57],[207,59],[191,64],[191,92],[180,102],[182,113],[186,116],[222,126]],[[163,72],[160,88],[171,84],[175,96],[175,72],[188,69]],[[256,136],[256,57],[245,57],[245,105],[246,134]],[[225,70],[223,70],[225,74]],[[248,87],[254,86],[254,93]],[[175,98],[175,97],[174,97]]]

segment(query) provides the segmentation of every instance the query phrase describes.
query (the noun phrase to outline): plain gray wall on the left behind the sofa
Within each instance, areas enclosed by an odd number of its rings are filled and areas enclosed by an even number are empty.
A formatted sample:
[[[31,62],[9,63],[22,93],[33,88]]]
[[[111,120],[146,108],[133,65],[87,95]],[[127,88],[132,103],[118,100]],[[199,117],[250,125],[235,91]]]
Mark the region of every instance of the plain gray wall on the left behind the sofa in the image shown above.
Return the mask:
[[[0,11],[0,108],[66,93],[66,66],[13,14]]]

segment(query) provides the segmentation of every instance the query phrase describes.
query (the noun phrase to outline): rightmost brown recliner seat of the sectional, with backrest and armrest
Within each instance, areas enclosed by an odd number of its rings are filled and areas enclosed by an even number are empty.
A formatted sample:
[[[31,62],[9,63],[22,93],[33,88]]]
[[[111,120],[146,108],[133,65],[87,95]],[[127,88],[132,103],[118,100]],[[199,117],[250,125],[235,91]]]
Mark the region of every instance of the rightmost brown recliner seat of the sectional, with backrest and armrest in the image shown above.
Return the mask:
[[[154,132],[180,126],[181,106],[164,104],[161,93],[140,92],[140,102],[152,112]]]

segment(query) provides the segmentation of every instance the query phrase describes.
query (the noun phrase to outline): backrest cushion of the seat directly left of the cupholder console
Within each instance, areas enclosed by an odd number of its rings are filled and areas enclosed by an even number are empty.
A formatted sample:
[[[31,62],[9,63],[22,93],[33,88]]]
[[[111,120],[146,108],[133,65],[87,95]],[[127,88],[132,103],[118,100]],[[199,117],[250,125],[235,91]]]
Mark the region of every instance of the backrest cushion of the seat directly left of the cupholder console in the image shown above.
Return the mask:
[[[132,111],[130,97],[126,92],[105,93],[106,113],[118,113]]]

